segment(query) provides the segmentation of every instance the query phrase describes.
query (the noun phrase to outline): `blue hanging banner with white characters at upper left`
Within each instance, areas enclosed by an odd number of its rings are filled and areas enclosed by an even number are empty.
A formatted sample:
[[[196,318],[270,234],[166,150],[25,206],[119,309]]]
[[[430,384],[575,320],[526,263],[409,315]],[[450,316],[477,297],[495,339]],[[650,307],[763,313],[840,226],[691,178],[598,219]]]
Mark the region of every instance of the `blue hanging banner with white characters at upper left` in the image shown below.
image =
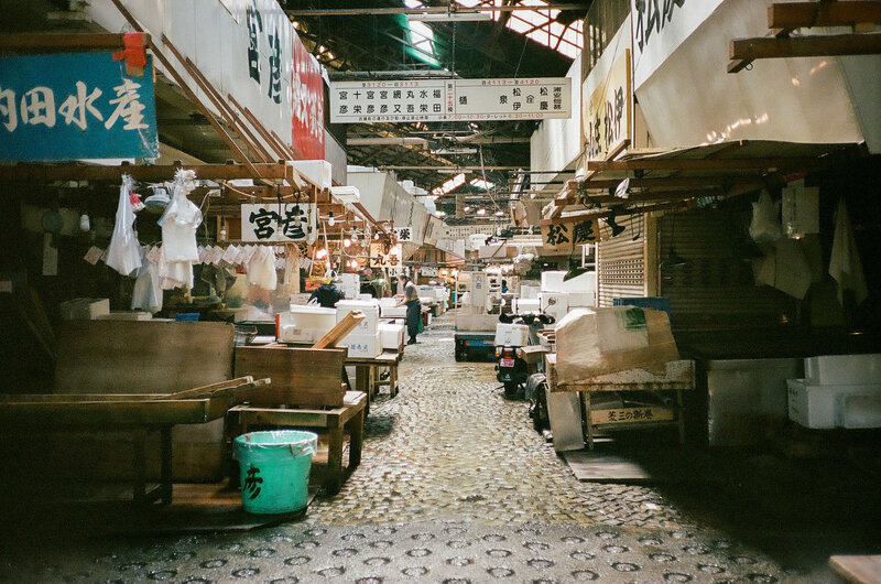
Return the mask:
[[[0,58],[0,161],[159,156],[152,60],[112,53]]]

